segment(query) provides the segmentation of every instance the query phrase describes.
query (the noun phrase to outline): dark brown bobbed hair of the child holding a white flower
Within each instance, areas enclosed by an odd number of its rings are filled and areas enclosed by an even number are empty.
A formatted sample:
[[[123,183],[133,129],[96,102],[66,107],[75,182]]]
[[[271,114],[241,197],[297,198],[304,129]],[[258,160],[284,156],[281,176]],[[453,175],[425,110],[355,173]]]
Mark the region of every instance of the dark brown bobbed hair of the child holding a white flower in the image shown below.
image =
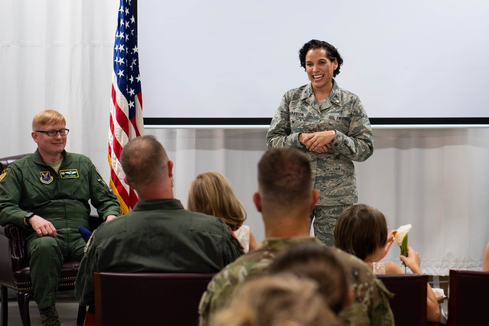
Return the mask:
[[[387,222],[376,208],[355,204],[346,208],[334,228],[334,246],[362,261],[378,261],[387,242]]]

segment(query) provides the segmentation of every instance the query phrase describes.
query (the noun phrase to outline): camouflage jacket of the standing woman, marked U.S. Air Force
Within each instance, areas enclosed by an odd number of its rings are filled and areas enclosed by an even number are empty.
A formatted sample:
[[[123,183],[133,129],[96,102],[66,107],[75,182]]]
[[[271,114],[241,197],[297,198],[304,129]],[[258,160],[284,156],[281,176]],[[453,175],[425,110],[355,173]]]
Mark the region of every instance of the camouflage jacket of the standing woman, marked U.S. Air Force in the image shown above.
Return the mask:
[[[311,152],[299,143],[299,133],[324,130],[336,130],[328,152]],[[313,187],[320,195],[317,205],[336,206],[357,202],[353,161],[363,162],[372,155],[374,139],[358,96],[333,80],[333,89],[320,108],[311,84],[285,93],[268,129],[267,146],[305,152],[311,162]]]

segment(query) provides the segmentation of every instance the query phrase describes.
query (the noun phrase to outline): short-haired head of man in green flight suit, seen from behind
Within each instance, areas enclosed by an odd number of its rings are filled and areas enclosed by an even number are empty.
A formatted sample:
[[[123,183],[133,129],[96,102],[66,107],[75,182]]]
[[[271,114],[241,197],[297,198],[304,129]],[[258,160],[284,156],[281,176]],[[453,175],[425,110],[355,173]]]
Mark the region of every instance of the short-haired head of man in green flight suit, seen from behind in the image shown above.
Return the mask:
[[[173,197],[173,162],[155,136],[131,139],[121,152],[120,162],[126,174],[124,181],[139,199]]]

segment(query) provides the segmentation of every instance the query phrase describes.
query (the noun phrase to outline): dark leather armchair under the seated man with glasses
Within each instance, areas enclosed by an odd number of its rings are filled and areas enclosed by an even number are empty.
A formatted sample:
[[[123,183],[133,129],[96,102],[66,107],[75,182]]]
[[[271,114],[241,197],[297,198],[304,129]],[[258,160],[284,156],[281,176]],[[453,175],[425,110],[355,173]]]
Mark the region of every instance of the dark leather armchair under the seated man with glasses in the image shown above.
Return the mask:
[[[15,160],[27,156],[22,154],[0,158],[0,173]],[[90,223],[93,227],[101,222],[98,217],[91,217]],[[80,261],[70,261],[63,264],[59,290],[73,290],[76,274]],[[30,326],[29,301],[34,292],[30,280],[29,259],[24,232],[21,227],[14,224],[0,226],[0,295],[1,295],[1,317],[0,326],[8,323],[8,300],[7,288],[13,289],[17,294],[17,303],[23,326]],[[76,325],[83,325],[86,307],[79,307]]]

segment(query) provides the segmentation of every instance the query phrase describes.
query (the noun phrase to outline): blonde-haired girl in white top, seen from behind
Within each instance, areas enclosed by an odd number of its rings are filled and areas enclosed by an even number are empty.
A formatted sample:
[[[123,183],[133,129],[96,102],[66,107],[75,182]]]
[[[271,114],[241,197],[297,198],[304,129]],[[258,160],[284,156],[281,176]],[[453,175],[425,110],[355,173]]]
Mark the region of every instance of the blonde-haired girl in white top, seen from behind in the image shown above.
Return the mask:
[[[246,211],[222,174],[205,172],[197,175],[190,185],[187,209],[222,219],[238,238],[245,253],[258,247],[249,226],[243,225]]]

